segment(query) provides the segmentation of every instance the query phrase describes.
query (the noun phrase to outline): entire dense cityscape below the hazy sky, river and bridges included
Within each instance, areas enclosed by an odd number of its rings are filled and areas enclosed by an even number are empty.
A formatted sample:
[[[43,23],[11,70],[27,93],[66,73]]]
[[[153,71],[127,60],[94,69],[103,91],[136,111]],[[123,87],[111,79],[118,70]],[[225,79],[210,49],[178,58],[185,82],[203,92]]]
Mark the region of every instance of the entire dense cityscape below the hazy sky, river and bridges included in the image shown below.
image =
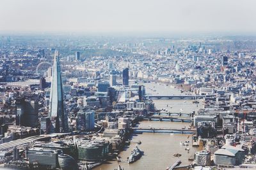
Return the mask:
[[[140,169],[152,157],[169,163],[145,169],[255,169],[255,47],[246,36],[3,35],[1,167]],[[150,155],[164,148],[147,134],[178,150]]]

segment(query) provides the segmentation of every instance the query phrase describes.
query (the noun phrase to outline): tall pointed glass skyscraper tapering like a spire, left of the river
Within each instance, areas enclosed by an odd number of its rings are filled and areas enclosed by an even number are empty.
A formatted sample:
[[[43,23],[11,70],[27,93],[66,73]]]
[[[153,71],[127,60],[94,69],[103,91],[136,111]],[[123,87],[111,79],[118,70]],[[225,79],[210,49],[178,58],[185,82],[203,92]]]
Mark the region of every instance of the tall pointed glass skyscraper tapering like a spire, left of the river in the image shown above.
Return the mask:
[[[49,117],[52,122],[51,132],[68,132],[68,117],[67,112],[65,111],[58,51],[55,51],[54,53],[54,62],[52,66]]]

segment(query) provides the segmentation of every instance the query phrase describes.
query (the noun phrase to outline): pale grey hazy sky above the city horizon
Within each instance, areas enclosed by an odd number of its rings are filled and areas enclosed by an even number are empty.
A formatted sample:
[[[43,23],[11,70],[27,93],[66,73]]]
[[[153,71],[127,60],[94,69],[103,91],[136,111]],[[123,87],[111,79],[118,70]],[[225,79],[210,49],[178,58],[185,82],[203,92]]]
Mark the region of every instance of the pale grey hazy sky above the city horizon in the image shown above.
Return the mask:
[[[256,0],[0,0],[0,31],[256,32]]]

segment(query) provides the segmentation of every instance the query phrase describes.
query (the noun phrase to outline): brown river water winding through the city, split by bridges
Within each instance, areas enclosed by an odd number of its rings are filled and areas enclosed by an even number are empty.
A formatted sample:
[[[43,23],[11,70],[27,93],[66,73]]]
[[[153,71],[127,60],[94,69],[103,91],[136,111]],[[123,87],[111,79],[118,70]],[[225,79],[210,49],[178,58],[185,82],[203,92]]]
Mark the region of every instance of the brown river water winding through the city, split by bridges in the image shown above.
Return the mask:
[[[179,89],[175,89],[172,86],[166,86],[157,83],[143,83],[146,87],[146,93],[159,96],[168,95],[185,95],[186,92],[181,93]],[[189,95],[189,94],[188,94]],[[155,106],[157,109],[165,109],[173,113],[191,113],[192,111],[197,111],[202,108],[202,103],[193,104],[192,100],[165,100],[165,99],[155,99]],[[182,128],[188,127],[190,123],[186,122],[159,122],[159,121],[143,121],[138,124],[138,127],[172,127],[172,128]],[[188,165],[191,161],[188,160],[189,157],[193,157],[193,153],[198,150],[198,148],[191,146],[191,135],[188,134],[160,134],[160,133],[143,133],[143,134],[133,134],[131,136],[132,141],[141,141],[139,148],[143,150],[144,155],[140,160],[137,160],[133,164],[127,164],[127,162],[117,162],[109,161],[107,164],[102,164],[101,166],[95,167],[97,170],[103,169],[115,169],[120,164],[125,170],[135,170],[135,169],[152,169],[161,170],[166,169],[178,159],[181,160],[181,165]],[[189,146],[180,146],[180,141],[189,140]],[[136,146],[136,143],[131,143],[127,146],[123,152],[120,153],[122,160],[126,160],[131,154],[132,149]],[[189,153],[185,148],[190,148]],[[181,157],[174,157],[174,153],[180,153]]]

